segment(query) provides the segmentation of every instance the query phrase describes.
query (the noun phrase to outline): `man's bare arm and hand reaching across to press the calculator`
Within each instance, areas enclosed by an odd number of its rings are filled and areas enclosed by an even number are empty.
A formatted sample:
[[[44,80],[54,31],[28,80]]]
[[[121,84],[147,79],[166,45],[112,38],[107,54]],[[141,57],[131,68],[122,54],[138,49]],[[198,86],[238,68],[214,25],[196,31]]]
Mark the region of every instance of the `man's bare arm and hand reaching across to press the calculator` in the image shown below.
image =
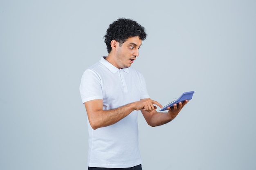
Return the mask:
[[[129,115],[133,110],[143,110],[145,113],[150,113],[156,109],[156,106],[153,104],[162,108],[161,104],[151,99],[141,99],[138,102],[133,102],[112,110],[103,110],[102,99],[91,100],[84,104],[90,125],[94,130],[117,123],[117,121]]]

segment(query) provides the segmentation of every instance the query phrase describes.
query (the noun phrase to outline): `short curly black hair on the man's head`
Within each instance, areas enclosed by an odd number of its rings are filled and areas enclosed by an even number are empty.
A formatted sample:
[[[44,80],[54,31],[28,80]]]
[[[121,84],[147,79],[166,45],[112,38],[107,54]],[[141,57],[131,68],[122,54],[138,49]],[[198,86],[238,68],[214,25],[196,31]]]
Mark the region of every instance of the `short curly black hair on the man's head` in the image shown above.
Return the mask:
[[[110,45],[112,40],[116,40],[121,46],[128,38],[136,36],[139,36],[141,40],[146,40],[145,28],[132,19],[118,18],[109,25],[104,36],[108,53],[112,50]]]

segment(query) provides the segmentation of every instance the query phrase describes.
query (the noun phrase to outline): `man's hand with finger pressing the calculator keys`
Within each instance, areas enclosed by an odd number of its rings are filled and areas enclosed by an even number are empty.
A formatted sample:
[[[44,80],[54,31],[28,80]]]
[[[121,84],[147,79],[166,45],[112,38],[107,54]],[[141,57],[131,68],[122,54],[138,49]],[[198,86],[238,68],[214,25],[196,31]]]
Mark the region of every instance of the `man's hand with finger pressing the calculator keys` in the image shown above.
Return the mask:
[[[155,110],[157,107],[154,106],[153,104],[156,104],[157,106],[159,106],[160,108],[162,108],[163,106],[161,104],[159,104],[157,101],[155,100],[151,100],[151,99],[141,99],[138,102],[135,102],[135,110],[144,110],[147,112],[151,112],[152,110]]]

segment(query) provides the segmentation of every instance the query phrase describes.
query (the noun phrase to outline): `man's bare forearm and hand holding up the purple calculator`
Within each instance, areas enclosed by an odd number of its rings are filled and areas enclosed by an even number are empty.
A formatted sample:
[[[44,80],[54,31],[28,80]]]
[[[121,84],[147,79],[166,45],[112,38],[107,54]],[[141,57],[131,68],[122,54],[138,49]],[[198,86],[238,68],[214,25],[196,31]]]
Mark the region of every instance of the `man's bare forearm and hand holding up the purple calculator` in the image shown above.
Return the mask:
[[[166,124],[173,120],[182,110],[182,108],[188,103],[188,100],[185,100],[183,103],[180,102],[179,104],[174,104],[173,107],[168,107],[167,113],[157,112],[153,110],[151,112],[147,112],[141,109],[141,113],[143,114],[144,118],[146,119],[148,125],[155,127]]]

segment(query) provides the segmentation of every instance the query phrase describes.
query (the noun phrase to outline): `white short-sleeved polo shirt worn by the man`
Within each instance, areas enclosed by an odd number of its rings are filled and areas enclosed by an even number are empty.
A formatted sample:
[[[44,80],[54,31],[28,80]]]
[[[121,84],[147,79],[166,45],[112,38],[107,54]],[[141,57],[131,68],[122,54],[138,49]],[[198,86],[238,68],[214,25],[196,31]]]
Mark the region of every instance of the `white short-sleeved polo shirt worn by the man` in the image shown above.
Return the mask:
[[[149,98],[143,75],[135,68],[118,69],[104,57],[88,68],[80,84],[82,102],[103,99],[103,110]],[[138,111],[117,123],[93,130],[88,121],[88,166],[128,168],[141,164]]]

